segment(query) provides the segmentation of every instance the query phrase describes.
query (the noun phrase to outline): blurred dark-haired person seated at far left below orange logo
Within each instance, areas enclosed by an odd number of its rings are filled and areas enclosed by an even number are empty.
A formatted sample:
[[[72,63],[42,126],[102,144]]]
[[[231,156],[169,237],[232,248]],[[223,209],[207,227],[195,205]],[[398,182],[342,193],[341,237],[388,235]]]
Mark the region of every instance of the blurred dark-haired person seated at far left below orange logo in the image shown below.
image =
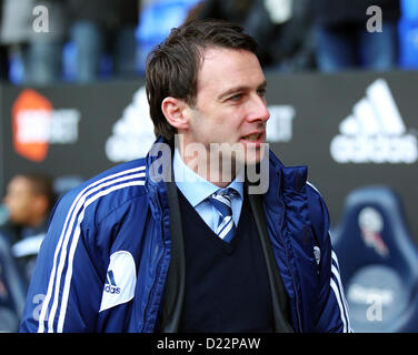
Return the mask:
[[[0,234],[8,240],[29,282],[54,203],[51,180],[42,174],[18,174],[10,180],[3,203],[9,216]]]

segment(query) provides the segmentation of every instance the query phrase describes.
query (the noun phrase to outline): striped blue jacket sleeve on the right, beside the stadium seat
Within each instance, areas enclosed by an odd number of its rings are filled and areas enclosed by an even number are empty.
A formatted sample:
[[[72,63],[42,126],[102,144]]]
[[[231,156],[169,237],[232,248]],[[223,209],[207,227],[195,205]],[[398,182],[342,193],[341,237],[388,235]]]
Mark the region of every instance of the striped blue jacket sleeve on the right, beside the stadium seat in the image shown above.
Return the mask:
[[[308,183],[309,214],[316,236],[314,254],[318,263],[317,332],[350,333],[348,306],[340,278],[338,258],[329,233],[329,214],[320,193]]]

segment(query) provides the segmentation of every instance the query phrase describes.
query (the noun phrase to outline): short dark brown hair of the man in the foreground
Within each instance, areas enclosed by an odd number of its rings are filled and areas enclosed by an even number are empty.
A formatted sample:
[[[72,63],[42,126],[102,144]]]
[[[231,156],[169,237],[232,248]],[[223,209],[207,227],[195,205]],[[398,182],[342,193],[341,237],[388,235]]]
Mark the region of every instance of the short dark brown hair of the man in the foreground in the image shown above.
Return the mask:
[[[235,23],[192,20],[172,29],[147,58],[146,89],[156,135],[172,142],[176,133],[161,111],[165,98],[196,104],[198,72],[203,51],[209,47],[247,50],[259,57],[257,42]]]

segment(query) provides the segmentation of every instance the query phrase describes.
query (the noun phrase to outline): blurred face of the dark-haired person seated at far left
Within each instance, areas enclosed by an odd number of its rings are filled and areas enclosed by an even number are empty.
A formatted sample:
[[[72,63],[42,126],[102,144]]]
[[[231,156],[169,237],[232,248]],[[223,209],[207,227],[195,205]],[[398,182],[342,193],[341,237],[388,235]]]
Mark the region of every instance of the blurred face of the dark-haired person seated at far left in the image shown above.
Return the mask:
[[[28,225],[37,205],[36,200],[30,181],[23,176],[13,178],[8,184],[4,196],[10,222],[17,225]]]

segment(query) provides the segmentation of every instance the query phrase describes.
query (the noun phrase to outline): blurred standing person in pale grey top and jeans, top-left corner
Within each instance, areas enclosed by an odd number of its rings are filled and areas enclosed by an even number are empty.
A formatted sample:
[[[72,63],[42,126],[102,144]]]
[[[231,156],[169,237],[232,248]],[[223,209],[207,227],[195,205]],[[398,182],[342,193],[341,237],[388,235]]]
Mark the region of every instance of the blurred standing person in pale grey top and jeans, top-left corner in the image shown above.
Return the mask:
[[[1,2],[0,43],[8,51],[11,82],[49,84],[61,80],[67,26],[63,4],[62,0]],[[37,7],[42,8],[36,11]]]

